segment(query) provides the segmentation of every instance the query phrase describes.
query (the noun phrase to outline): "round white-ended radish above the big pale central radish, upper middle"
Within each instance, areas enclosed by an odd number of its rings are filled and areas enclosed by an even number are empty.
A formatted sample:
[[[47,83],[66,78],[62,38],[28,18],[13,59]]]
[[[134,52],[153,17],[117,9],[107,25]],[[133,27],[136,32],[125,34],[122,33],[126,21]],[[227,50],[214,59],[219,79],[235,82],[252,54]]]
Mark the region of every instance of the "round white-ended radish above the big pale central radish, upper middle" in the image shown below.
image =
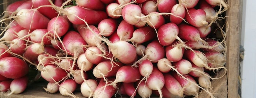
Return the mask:
[[[112,18],[103,19],[98,24],[98,29],[100,31],[100,34],[105,37],[108,37],[111,34],[113,34],[116,31],[117,27],[118,27],[118,22]]]

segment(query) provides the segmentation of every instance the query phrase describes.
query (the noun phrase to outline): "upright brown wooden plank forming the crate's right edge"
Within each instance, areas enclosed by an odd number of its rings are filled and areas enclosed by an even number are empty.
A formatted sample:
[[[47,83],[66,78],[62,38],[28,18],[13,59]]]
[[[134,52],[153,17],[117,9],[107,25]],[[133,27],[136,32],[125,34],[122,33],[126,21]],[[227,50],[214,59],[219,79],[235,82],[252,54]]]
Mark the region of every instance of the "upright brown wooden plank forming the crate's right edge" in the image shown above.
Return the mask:
[[[241,43],[241,0],[228,0],[227,11],[227,84],[228,98],[238,98],[238,76],[239,76],[239,47]]]

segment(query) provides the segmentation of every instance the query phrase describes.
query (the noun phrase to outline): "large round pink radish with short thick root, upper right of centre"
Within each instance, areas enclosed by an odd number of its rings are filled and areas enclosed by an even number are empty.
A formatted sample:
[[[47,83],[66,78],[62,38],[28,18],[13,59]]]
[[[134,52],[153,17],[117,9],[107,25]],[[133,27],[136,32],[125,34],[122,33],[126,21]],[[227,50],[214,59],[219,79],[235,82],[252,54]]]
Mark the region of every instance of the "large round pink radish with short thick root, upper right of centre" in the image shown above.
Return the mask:
[[[171,45],[172,42],[179,39],[178,34],[179,27],[175,23],[166,23],[159,27],[157,31],[159,43],[163,46]]]

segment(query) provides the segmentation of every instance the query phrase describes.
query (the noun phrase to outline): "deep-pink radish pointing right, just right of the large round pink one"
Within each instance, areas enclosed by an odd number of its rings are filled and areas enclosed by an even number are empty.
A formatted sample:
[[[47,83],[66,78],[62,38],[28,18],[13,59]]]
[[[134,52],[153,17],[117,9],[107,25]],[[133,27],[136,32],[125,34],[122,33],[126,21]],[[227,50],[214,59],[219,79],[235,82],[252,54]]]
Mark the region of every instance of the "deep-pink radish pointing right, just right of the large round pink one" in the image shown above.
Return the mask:
[[[200,38],[200,33],[194,26],[190,26],[188,24],[179,24],[179,34],[178,36],[181,39],[185,39],[187,41],[203,41],[203,39]]]

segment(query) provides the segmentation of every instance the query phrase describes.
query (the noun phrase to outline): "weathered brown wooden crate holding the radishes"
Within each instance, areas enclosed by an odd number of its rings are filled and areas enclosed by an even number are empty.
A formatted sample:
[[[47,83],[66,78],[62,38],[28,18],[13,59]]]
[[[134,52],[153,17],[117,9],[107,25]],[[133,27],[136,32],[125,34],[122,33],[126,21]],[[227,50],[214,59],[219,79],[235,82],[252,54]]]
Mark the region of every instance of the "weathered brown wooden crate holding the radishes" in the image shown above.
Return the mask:
[[[0,5],[0,12],[2,12],[8,4],[18,0],[3,0]],[[0,2],[1,3],[1,2]],[[225,74],[220,79],[212,80],[213,95],[216,98],[239,98],[238,94],[238,77],[239,77],[239,47],[241,42],[241,17],[242,17],[242,0],[228,0],[229,10],[226,11],[226,22],[229,24],[227,31],[227,62],[225,73],[220,70],[218,75]],[[44,91],[47,83],[34,83],[31,84],[25,92],[21,94],[12,94],[8,98],[66,98],[59,93],[49,94]],[[77,97],[83,97],[79,91],[74,93]],[[3,94],[0,96],[4,97]],[[209,95],[203,91],[199,98],[210,98]]]

